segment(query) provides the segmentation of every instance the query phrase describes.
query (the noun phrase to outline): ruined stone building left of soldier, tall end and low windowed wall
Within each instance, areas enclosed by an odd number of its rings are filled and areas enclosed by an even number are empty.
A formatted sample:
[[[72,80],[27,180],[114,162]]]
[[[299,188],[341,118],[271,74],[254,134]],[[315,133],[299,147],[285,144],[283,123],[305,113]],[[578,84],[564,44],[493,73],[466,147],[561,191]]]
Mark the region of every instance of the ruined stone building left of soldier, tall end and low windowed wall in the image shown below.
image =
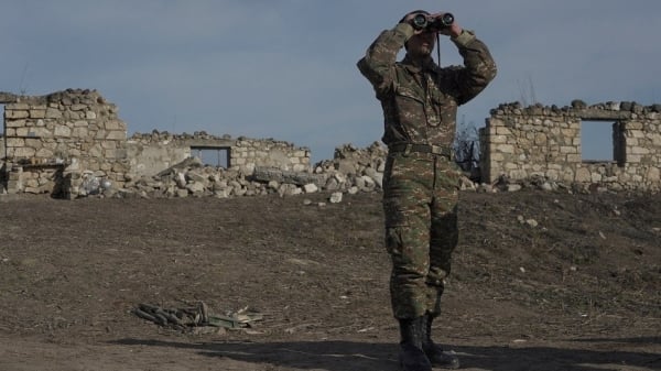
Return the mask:
[[[0,193],[72,197],[93,178],[122,187],[203,152],[217,154],[217,165],[245,173],[258,166],[310,170],[310,150],[282,141],[156,131],[128,138],[117,107],[96,90],[40,97],[0,92]]]

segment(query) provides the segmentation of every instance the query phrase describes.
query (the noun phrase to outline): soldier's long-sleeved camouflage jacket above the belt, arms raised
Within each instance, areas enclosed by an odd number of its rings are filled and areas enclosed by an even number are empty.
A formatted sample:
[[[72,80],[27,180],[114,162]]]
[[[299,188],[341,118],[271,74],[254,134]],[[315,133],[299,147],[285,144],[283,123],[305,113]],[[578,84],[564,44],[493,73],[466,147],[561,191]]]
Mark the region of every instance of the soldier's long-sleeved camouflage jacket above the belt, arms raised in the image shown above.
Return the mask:
[[[457,107],[477,96],[496,77],[496,64],[487,46],[470,31],[451,39],[464,66],[440,67],[429,56],[414,64],[397,55],[413,35],[405,23],[383,31],[358,62],[372,84],[384,118],[383,143],[449,146],[456,130]]]

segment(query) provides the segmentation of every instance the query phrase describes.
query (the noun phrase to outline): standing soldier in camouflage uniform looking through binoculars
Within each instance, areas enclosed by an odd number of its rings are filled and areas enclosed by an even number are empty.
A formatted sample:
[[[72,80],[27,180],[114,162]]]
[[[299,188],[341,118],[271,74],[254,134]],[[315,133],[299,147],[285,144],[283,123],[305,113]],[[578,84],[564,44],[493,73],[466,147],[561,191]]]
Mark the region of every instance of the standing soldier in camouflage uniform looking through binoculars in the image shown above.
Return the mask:
[[[431,338],[444,280],[458,241],[459,171],[452,161],[457,107],[496,76],[487,46],[457,22],[438,30],[413,22],[443,13],[413,11],[383,31],[358,62],[381,102],[389,154],[383,178],[386,247],[392,260],[390,294],[400,323],[403,370],[458,368],[453,352]],[[463,66],[440,67],[432,58],[438,34],[448,35]],[[397,62],[402,47],[407,55]]]

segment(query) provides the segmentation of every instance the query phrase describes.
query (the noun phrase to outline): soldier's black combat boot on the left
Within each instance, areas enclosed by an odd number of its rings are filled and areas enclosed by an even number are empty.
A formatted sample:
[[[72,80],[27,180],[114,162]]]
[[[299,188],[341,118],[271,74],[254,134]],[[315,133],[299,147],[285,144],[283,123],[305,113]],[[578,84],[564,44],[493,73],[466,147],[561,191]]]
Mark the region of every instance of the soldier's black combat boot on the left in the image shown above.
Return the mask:
[[[432,371],[430,360],[422,351],[424,316],[400,319],[400,364],[402,371]]]

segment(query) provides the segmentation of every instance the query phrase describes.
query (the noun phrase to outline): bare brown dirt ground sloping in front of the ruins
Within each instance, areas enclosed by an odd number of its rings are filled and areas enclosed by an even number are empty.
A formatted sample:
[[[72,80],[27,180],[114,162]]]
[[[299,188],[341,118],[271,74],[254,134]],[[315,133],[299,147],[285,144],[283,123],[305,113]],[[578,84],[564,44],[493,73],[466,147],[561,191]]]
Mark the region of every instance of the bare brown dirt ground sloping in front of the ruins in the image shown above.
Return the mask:
[[[0,196],[0,370],[398,370],[380,197]],[[661,195],[465,193],[460,220],[434,334],[463,369],[661,370]],[[199,302],[261,320],[132,313]]]

